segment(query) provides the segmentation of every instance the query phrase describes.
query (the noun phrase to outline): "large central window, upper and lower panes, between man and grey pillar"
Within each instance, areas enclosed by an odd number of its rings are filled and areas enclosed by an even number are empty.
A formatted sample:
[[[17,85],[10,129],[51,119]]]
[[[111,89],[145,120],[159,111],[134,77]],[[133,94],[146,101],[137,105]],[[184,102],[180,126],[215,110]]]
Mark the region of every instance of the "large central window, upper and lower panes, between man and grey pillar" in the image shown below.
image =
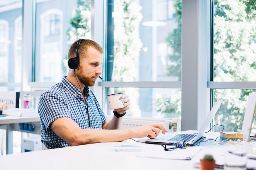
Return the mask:
[[[181,1],[114,0],[107,10],[106,95],[125,93],[128,116],[180,118]]]

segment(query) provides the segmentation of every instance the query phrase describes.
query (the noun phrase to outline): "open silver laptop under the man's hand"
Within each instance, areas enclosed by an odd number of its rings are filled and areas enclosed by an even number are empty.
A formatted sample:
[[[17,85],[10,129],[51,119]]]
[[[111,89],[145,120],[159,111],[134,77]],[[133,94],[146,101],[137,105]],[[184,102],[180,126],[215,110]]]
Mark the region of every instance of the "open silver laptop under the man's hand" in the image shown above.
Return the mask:
[[[157,137],[155,137],[153,139],[147,139],[145,141],[145,143],[147,143],[147,144],[168,144],[168,143],[177,144],[178,142],[185,141],[187,146],[194,146],[195,144],[198,144],[198,142],[205,139],[205,137],[203,137],[203,134],[207,130],[207,127],[209,127],[209,124],[211,123],[211,120],[213,119],[216,112],[218,111],[221,103],[222,103],[222,100],[220,100],[218,102],[214,102],[210,113],[208,114],[207,118],[204,120],[204,123],[202,124],[198,133],[193,133],[193,134],[166,133],[165,135],[159,134]]]

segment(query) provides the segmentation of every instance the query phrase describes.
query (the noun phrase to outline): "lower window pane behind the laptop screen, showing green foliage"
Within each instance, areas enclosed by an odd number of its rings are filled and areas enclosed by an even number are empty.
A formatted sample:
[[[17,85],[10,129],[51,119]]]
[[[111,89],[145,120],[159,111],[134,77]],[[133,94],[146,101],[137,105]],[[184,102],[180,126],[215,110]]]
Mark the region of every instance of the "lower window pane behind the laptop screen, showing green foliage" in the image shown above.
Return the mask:
[[[249,93],[256,93],[256,89],[214,89],[213,93],[214,101],[223,100],[213,124],[225,126],[224,131],[240,132],[243,126],[248,95]],[[256,116],[254,117],[255,123]]]

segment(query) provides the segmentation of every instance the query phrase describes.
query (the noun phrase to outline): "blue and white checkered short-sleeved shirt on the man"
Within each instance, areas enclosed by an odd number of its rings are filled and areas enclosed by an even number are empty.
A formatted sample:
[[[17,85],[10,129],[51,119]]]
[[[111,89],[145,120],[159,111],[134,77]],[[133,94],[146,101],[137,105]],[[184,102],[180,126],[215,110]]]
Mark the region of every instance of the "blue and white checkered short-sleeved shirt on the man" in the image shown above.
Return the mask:
[[[41,141],[48,148],[70,146],[49,127],[58,118],[70,118],[81,129],[89,128],[87,107],[90,128],[102,129],[102,124],[106,122],[106,117],[99,106],[99,102],[87,86],[85,86],[83,92],[88,106],[83,102],[83,96],[79,89],[70,83],[66,77],[63,77],[61,83],[52,86],[40,96],[38,113],[41,123]]]

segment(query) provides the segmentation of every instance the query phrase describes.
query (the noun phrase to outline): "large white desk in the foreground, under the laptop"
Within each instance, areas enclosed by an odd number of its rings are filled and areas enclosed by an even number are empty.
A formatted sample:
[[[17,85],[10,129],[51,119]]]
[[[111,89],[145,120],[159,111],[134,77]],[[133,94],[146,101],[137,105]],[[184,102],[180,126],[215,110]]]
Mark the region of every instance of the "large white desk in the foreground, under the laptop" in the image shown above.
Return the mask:
[[[206,136],[216,137],[218,134],[207,133]],[[203,150],[222,150],[225,148],[212,146],[213,143],[211,141],[204,143]],[[248,145],[249,143],[240,142],[240,144]],[[5,155],[0,157],[0,168],[1,170],[199,170],[194,168],[193,163],[200,159],[198,158],[200,155],[196,155],[191,161],[144,158],[137,157],[138,153],[136,152],[114,152],[116,146],[120,145],[136,145],[145,150],[166,152],[159,145],[143,144],[128,139],[124,142],[88,144],[18,155]],[[172,154],[172,151],[169,153]]]

